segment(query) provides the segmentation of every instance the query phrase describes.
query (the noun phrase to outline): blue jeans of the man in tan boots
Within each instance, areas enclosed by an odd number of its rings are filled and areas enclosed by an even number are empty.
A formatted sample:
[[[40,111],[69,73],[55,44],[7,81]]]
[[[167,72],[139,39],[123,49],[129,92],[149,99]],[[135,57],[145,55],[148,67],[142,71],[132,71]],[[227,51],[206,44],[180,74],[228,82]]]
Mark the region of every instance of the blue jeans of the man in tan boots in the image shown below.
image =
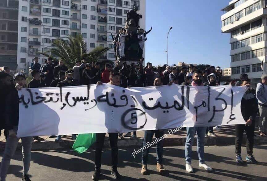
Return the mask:
[[[153,138],[154,133],[155,133],[155,138],[157,138],[157,140],[164,135],[164,132],[160,131],[160,130],[145,131],[143,148],[146,147],[146,149],[143,149],[143,151],[142,151],[142,164],[143,165],[147,165],[147,158],[148,158],[149,148],[150,148],[149,146],[146,145],[146,143],[150,144],[152,142],[152,138]],[[157,141],[157,143],[155,143],[156,140],[153,142],[154,142],[154,144],[156,144],[156,150],[157,150],[156,161],[157,161],[157,163],[162,164],[162,158],[163,158],[163,146],[162,145],[163,145],[163,142]]]

